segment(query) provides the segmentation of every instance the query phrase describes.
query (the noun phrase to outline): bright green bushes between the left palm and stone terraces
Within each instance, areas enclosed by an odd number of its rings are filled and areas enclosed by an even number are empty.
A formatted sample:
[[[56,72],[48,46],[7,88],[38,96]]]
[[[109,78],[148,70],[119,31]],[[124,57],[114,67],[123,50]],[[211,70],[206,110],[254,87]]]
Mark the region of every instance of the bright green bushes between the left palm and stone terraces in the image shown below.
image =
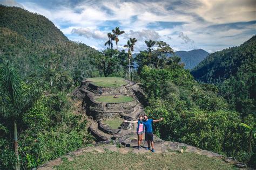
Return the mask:
[[[70,112],[70,102],[63,93],[43,96],[23,117],[26,130],[20,133],[22,165],[27,168],[77,150],[92,142],[82,115]]]

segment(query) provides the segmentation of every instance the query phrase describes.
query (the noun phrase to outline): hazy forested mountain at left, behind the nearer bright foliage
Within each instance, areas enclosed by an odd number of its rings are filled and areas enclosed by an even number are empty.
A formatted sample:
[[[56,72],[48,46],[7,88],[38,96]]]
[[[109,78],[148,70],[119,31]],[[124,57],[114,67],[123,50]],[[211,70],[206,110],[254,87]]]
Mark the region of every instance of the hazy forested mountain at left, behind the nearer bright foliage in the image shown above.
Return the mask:
[[[70,41],[49,19],[21,8],[0,5],[0,44],[0,63],[10,60],[22,77],[82,79],[96,70],[96,49]]]

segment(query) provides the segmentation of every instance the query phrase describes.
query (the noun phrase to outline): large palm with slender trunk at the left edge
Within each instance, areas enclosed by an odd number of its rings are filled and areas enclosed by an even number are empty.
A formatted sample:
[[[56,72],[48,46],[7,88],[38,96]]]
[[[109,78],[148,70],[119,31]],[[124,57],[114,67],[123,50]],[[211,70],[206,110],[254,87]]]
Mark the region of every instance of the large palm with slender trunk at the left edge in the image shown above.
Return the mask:
[[[9,61],[0,68],[0,86],[2,90],[0,114],[14,122],[14,149],[17,157],[15,169],[19,169],[17,121],[36,102],[41,90],[39,88],[22,90],[21,80]]]

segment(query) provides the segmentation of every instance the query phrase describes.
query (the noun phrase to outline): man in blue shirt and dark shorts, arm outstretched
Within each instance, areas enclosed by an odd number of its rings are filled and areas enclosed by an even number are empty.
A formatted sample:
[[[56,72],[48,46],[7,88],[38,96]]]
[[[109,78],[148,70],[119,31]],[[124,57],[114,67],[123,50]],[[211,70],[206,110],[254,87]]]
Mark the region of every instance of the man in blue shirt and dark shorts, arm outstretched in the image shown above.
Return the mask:
[[[147,148],[146,150],[150,150],[150,144],[152,147],[152,152],[154,152],[154,140],[153,140],[153,129],[152,123],[162,121],[163,118],[161,117],[158,120],[148,119],[147,115],[144,115],[144,125],[145,125],[145,140],[147,141]]]

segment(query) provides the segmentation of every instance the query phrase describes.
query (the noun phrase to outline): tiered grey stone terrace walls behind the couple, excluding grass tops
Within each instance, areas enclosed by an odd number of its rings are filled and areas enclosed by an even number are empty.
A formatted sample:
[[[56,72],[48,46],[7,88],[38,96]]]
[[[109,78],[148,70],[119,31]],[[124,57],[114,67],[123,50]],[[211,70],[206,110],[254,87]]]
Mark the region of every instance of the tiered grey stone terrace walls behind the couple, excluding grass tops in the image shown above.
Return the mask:
[[[96,137],[97,141],[115,140],[125,134],[134,133],[136,127],[131,123],[120,124],[119,129],[111,129],[104,124],[103,120],[123,118],[129,121],[138,119],[144,114],[140,99],[145,97],[142,89],[137,83],[127,81],[120,87],[98,87],[89,80],[84,80],[81,86],[73,93],[75,97],[83,100],[83,108],[90,121],[89,131]],[[133,97],[130,102],[106,103],[98,102],[96,98],[107,95],[124,95]]]

